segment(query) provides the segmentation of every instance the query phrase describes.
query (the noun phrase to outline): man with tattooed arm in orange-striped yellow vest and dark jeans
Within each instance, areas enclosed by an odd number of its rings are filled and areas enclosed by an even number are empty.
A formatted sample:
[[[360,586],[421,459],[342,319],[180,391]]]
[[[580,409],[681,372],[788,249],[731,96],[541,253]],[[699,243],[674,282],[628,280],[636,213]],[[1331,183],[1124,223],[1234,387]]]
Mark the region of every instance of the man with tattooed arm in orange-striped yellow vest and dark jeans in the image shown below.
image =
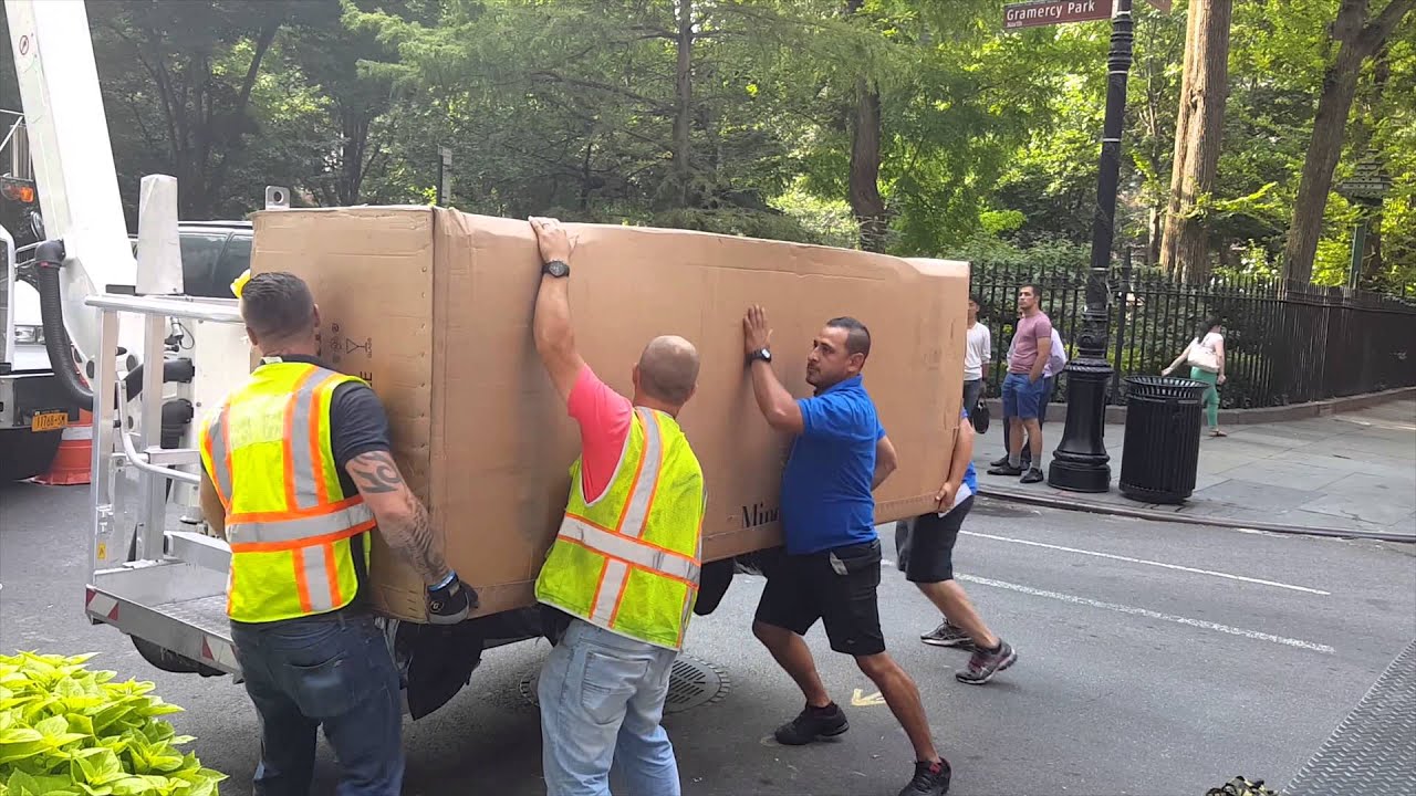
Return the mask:
[[[231,544],[227,615],[261,717],[255,792],[309,793],[323,725],[341,795],[395,796],[399,677],[362,593],[372,530],[423,576],[430,622],[466,619],[476,593],[447,568],[389,456],[374,391],[317,358],[309,286],[259,273],[232,292],[262,360],[202,423],[200,494]]]

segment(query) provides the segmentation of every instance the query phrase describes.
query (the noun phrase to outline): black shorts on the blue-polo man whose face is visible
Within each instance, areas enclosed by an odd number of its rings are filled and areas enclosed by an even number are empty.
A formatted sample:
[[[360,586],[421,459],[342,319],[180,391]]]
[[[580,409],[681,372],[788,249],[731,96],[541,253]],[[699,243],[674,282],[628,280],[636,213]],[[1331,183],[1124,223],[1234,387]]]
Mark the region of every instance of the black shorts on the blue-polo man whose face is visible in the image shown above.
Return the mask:
[[[821,619],[831,649],[851,656],[885,652],[879,601],[881,542],[852,544],[809,555],[765,557],[767,585],[756,620],[804,636]]]

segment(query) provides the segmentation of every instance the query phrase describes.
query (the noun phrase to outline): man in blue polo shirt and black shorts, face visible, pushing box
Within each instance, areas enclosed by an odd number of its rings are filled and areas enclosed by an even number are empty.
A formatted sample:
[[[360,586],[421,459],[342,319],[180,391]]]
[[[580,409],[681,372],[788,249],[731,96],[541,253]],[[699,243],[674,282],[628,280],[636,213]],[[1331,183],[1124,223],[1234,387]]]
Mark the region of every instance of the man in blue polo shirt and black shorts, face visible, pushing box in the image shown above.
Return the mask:
[[[885,653],[881,633],[872,491],[895,469],[895,448],[861,382],[871,333],[852,317],[826,322],[806,358],[816,395],[796,399],[772,371],[766,312],[750,307],[742,326],[758,408],[772,428],[796,438],[782,473],[786,550],[765,567],[767,585],[752,625],[806,697],[806,708],[777,728],[776,739],[803,745],[850,728],[803,640],[821,619],[831,649],[855,657],[915,746],[915,773],[901,796],[942,796],[949,763],[935,752],[919,688]]]

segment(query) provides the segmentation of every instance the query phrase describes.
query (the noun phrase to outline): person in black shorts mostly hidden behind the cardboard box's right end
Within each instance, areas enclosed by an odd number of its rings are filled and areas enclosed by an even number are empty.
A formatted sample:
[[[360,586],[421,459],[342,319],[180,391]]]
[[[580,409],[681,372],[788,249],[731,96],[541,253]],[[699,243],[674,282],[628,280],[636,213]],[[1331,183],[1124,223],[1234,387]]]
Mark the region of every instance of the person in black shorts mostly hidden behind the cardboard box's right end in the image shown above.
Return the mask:
[[[969,411],[963,412],[949,476],[935,500],[939,511],[930,511],[895,524],[895,561],[905,579],[919,586],[925,596],[944,616],[939,627],[920,636],[936,647],[971,647],[969,667],[954,674],[960,683],[983,686],[993,676],[1018,660],[1012,646],[984,625],[963,586],[954,581],[954,541],[959,527],[973,508],[978,476],[973,469],[973,425]]]

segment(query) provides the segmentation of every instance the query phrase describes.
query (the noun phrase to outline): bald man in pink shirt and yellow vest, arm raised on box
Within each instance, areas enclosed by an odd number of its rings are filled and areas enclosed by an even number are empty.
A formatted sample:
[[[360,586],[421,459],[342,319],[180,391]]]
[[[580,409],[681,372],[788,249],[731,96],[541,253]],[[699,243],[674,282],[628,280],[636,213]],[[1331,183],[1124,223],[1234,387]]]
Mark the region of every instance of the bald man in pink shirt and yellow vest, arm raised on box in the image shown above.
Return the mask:
[[[535,346],[581,428],[565,517],[535,584],[542,605],[571,618],[552,632],[538,684],[547,790],[607,796],[613,762],[630,793],[678,796],[660,720],[700,585],[704,479],[677,421],[698,351],[656,337],[634,365],[633,401],[610,390],[575,348],[573,245],[555,220],[531,225],[544,263]]]

